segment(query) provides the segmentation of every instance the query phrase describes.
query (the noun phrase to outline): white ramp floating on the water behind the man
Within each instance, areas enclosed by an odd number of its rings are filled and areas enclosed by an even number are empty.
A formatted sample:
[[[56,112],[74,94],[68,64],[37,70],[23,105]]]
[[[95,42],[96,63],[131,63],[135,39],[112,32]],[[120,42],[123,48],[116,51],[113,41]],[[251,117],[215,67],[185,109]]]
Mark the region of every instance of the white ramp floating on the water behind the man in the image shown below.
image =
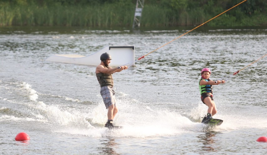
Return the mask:
[[[127,64],[127,66],[134,65],[135,48],[132,45],[106,46],[88,56],[76,54],[53,54],[46,58],[45,61],[97,66],[101,63],[100,55],[103,53],[111,55],[112,60],[110,66],[122,66],[125,64]]]

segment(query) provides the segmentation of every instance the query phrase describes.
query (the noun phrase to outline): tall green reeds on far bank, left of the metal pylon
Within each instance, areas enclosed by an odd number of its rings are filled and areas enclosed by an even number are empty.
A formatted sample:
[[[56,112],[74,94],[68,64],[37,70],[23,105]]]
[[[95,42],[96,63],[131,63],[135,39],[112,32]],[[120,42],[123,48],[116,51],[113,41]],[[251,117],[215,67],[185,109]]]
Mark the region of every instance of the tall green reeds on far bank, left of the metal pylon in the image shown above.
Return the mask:
[[[133,9],[103,6],[1,6],[1,25],[123,26],[131,25]]]

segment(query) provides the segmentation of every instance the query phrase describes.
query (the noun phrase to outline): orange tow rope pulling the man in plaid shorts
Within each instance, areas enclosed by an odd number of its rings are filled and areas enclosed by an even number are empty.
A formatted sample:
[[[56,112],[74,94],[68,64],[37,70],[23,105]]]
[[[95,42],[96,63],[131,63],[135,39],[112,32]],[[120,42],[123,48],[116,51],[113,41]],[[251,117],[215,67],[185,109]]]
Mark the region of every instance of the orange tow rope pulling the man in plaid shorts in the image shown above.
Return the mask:
[[[238,5],[240,5],[240,4],[242,4],[242,3],[246,2],[246,1],[247,1],[247,0],[244,0],[243,2],[240,2],[240,3],[238,3],[237,5],[233,6],[232,8],[235,8],[235,7],[237,7]],[[177,37],[177,38],[175,38],[175,39],[171,40],[170,42],[168,42],[168,43],[166,43],[166,44],[164,44],[164,45],[160,46],[159,48],[157,48],[157,49],[155,49],[155,50],[153,50],[153,51],[149,52],[148,54],[146,54],[146,55],[143,55],[143,56],[139,57],[137,60],[135,60],[135,61],[132,61],[132,62],[129,62],[129,63],[127,63],[127,64],[130,64],[130,63],[133,63],[133,62],[136,62],[136,61],[138,61],[138,60],[141,60],[141,59],[143,59],[145,56],[147,56],[147,55],[149,55],[149,54],[153,53],[154,51],[156,51],[156,50],[158,50],[158,49],[160,49],[160,48],[162,48],[162,47],[166,46],[167,44],[170,44],[171,42],[175,41],[176,39],[178,39],[178,38],[181,38],[182,36],[184,36],[184,35],[188,34],[189,32],[193,31],[194,29],[196,29],[196,28],[199,28],[200,26],[202,26],[202,25],[204,25],[204,24],[208,23],[208,22],[209,22],[209,21],[211,21],[212,19],[219,17],[219,16],[220,16],[220,15],[222,15],[223,13],[226,13],[227,11],[231,10],[232,8],[229,8],[228,10],[226,10],[226,11],[224,11],[224,12],[222,12],[222,13],[218,14],[217,16],[215,16],[215,17],[211,18],[210,20],[206,21],[205,23],[202,23],[202,24],[200,24],[199,26],[197,26],[197,27],[195,27],[195,28],[191,29],[190,31],[188,31],[188,32],[186,32],[186,33],[184,33],[184,34],[180,35],[179,37]],[[127,65],[127,64],[125,64],[125,65]],[[123,65],[123,66],[124,66],[124,65]],[[131,65],[130,65],[130,66],[131,66]],[[129,66],[129,67],[130,67],[130,66]]]

